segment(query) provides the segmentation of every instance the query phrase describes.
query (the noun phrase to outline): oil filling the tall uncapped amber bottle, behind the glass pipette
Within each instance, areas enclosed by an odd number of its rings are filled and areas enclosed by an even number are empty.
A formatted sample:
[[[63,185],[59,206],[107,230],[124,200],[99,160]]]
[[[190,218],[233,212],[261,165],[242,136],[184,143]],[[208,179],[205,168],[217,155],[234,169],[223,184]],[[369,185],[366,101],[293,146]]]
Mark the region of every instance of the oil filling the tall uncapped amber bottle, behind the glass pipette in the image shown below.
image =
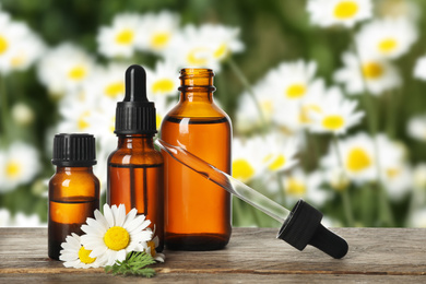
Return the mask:
[[[230,132],[227,117],[168,116],[162,125],[162,140],[184,145],[226,173],[230,171]],[[163,156],[167,170],[167,248],[211,250],[225,247],[230,237],[230,194],[167,154]]]

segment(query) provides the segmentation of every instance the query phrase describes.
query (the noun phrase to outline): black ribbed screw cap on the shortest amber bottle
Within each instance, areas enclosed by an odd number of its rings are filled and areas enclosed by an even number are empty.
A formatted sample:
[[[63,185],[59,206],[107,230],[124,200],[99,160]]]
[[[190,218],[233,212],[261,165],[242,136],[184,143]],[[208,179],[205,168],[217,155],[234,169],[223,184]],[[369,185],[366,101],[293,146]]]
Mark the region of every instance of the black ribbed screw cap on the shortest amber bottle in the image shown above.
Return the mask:
[[[56,134],[51,163],[62,167],[90,167],[96,165],[95,143],[95,138],[92,134]]]

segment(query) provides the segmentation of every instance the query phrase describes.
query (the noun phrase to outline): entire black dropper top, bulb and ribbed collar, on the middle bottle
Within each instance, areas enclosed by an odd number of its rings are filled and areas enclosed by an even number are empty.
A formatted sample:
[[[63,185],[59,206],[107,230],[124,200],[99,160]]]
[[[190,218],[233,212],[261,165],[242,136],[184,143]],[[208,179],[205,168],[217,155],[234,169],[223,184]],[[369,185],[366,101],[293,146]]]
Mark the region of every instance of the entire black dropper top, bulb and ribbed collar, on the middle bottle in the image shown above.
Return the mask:
[[[154,103],[146,97],[146,72],[138,64],[126,70],[126,96],[117,103],[116,134],[155,134]]]

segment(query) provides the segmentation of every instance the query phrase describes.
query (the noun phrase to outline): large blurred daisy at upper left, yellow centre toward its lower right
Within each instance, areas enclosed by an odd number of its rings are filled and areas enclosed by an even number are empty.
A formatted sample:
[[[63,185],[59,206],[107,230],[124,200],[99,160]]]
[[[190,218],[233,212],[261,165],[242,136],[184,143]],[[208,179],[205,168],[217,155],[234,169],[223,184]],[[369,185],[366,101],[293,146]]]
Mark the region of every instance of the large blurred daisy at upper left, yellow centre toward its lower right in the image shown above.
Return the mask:
[[[94,59],[73,44],[61,44],[47,51],[38,64],[38,78],[51,95],[75,91],[94,72]]]

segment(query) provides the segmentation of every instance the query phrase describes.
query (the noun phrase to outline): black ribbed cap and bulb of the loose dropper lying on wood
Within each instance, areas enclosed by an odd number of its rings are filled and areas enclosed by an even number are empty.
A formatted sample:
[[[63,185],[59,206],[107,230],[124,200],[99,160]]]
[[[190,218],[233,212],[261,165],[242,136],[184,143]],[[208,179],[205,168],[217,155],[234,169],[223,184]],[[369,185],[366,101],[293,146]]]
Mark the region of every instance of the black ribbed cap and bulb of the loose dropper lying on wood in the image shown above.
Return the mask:
[[[322,226],[321,220],[321,212],[299,200],[276,237],[298,250],[311,245],[335,259],[343,258],[347,253],[347,242]]]

